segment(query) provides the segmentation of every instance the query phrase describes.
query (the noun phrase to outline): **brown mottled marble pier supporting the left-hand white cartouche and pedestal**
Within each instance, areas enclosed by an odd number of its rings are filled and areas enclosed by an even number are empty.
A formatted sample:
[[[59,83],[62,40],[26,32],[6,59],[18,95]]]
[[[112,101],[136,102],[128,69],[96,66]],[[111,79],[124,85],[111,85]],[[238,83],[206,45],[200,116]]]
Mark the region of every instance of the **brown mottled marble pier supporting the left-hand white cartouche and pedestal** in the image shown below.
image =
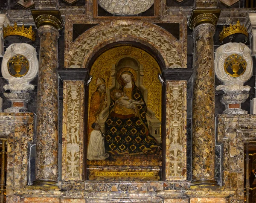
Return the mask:
[[[13,191],[24,188],[28,180],[28,144],[34,139],[33,113],[0,113],[1,136],[7,136],[6,195],[15,202]]]

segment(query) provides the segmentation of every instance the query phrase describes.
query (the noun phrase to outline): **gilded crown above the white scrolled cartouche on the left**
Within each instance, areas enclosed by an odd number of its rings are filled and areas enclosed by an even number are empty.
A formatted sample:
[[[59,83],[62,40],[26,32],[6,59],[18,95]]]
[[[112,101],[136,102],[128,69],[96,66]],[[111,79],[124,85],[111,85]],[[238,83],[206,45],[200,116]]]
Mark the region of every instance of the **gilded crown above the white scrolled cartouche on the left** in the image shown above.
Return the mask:
[[[20,35],[26,38],[35,41],[35,31],[32,30],[32,26],[25,28],[24,25],[17,26],[17,23],[14,23],[14,26],[9,26],[3,28],[3,38],[11,35]]]

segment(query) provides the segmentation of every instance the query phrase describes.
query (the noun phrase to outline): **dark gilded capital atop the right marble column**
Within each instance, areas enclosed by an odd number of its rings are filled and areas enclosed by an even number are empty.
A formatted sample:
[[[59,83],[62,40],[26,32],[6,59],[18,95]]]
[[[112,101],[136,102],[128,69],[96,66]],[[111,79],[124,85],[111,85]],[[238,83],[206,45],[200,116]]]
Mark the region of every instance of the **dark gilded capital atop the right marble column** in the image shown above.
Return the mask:
[[[195,29],[196,26],[202,23],[210,23],[216,26],[220,13],[221,9],[195,9],[190,16],[189,27]]]

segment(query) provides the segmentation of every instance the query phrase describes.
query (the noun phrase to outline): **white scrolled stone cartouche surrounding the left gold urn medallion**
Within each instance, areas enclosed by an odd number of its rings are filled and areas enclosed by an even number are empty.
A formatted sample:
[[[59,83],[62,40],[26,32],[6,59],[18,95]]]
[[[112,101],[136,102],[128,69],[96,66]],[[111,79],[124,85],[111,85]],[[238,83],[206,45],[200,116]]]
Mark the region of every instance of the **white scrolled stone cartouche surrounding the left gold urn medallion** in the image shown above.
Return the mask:
[[[8,71],[8,61],[13,56],[21,54],[26,57],[29,61],[29,71],[23,77],[13,77]],[[3,77],[9,82],[3,88],[5,90],[15,90],[15,91],[26,91],[34,90],[34,85],[29,84],[38,73],[38,59],[37,53],[33,46],[22,43],[22,44],[11,44],[3,55],[2,61],[2,74]]]

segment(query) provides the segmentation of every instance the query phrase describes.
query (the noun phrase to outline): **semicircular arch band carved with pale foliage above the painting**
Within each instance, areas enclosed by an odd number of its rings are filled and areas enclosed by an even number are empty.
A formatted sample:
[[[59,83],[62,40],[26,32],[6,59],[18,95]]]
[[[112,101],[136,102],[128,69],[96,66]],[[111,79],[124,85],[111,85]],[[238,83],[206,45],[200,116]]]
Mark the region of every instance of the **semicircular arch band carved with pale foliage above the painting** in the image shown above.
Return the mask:
[[[133,20],[104,22],[88,29],[71,44],[65,67],[85,68],[99,49],[122,41],[138,42],[157,50],[166,68],[186,67],[182,45],[177,38],[157,25]]]

